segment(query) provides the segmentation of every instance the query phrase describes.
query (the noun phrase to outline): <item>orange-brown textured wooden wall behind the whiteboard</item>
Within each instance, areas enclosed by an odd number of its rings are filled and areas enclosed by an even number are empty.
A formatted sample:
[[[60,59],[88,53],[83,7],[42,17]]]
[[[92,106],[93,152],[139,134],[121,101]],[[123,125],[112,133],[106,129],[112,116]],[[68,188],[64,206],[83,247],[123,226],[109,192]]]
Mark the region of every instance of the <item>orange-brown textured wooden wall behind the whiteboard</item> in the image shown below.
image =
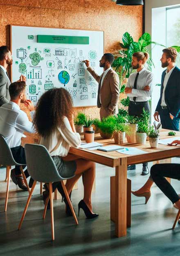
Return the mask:
[[[111,0],[0,0],[0,45],[10,46],[10,24],[104,31],[104,51],[118,49],[128,31],[142,35],[142,6],[118,6]],[[76,108],[99,118],[97,107]]]

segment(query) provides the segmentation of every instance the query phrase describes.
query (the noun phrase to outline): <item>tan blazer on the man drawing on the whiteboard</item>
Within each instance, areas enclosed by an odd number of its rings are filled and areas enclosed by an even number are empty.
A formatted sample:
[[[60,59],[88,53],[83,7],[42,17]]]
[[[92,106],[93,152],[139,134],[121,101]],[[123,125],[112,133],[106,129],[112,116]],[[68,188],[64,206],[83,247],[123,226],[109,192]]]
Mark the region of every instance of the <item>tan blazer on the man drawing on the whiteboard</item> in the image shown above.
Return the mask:
[[[101,86],[101,79],[103,74],[99,76],[92,67],[88,67],[87,70],[99,83],[98,95],[97,95],[97,107],[100,109],[100,117],[107,117],[108,115],[118,113],[118,100],[119,100],[119,76],[111,69],[106,74],[103,84]],[[100,102],[101,96],[101,102]]]

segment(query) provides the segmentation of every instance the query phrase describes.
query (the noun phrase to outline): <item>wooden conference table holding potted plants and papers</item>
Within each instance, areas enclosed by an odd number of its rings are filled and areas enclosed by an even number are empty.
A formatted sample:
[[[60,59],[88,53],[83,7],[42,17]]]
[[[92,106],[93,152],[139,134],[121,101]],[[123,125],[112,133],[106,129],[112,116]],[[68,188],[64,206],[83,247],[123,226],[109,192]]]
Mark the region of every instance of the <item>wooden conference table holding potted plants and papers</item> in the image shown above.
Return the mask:
[[[162,129],[160,132],[160,139],[170,138],[167,136],[169,130]],[[32,134],[26,134],[27,138],[31,138],[37,142],[37,136]],[[180,136],[180,132],[176,132],[176,136]],[[173,136],[171,137],[173,138]],[[95,134],[95,141],[104,145],[114,145],[114,140],[103,139],[99,134]],[[29,142],[27,142],[29,143]],[[99,150],[88,150],[80,148],[70,148],[70,153],[81,157],[86,160],[90,160],[105,166],[115,168],[115,202],[111,204],[111,208],[115,209],[114,221],[115,221],[115,235],[117,237],[123,237],[127,234],[127,226],[130,226],[129,214],[127,212],[127,166],[132,164],[140,164],[143,162],[157,161],[161,159],[169,159],[171,157],[180,156],[180,147],[158,145],[158,148],[151,148],[149,141],[146,141],[146,145],[137,145],[132,143],[124,143],[125,146],[136,147],[146,151],[148,154],[143,155],[124,155],[116,151],[102,152]],[[111,186],[114,185],[113,181]],[[113,189],[113,188],[112,188]],[[112,190],[111,189],[111,190]],[[130,193],[130,191],[129,191]],[[111,214],[113,215],[112,209]],[[127,215],[128,214],[128,215]],[[111,218],[113,219],[113,218]]]

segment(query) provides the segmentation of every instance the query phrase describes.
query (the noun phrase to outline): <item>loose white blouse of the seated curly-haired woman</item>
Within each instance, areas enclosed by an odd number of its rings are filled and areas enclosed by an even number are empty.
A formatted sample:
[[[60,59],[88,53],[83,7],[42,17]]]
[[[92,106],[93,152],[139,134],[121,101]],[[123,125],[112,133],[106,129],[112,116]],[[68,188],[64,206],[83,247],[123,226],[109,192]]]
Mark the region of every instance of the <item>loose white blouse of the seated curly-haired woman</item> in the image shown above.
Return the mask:
[[[81,145],[81,137],[72,131],[68,118],[64,117],[62,125],[56,127],[50,136],[41,137],[39,144],[44,145],[51,156],[66,157],[70,146],[77,148]]]

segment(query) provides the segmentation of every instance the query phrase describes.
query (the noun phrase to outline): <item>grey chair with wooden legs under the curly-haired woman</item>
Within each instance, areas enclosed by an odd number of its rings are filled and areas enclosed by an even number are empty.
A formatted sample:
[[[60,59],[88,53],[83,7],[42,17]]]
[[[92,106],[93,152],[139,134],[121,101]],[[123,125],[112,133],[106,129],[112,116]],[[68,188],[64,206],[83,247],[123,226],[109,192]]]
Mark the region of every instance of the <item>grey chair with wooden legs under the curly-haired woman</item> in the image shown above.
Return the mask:
[[[63,180],[67,180],[67,178],[64,179],[59,175],[52,157],[50,156],[49,152],[43,145],[25,144],[25,154],[26,154],[26,162],[27,162],[28,172],[31,175],[31,177],[34,179],[34,183],[32,185],[32,189],[31,189],[29,197],[27,199],[25,210],[24,210],[22,218],[20,220],[18,229],[21,228],[21,225],[23,223],[23,219],[25,217],[29,202],[32,198],[32,193],[33,193],[34,187],[36,186],[36,182],[39,181],[39,182],[49,183],[50,196],[47,198],[46,203],[45,203],[43,219],[45,219],[47,203],[50,199],[51,231],[52,231],[52,240],[54,240],[54,213],[53,213],[53,198],[52,198],[52,193],[53,193],[52,192],[52,182],[58,182],[58,181],[61,182],[65,196],[67,198],[70,209],[72,211],[74,220],[75,220],[76,224],[78,225],[76,214],[74,212],[72,203],[70,201],[69,195],[67,193],[66,187],[63,182]],[[72,178],[72,177],[70,177],[70,178]]]

